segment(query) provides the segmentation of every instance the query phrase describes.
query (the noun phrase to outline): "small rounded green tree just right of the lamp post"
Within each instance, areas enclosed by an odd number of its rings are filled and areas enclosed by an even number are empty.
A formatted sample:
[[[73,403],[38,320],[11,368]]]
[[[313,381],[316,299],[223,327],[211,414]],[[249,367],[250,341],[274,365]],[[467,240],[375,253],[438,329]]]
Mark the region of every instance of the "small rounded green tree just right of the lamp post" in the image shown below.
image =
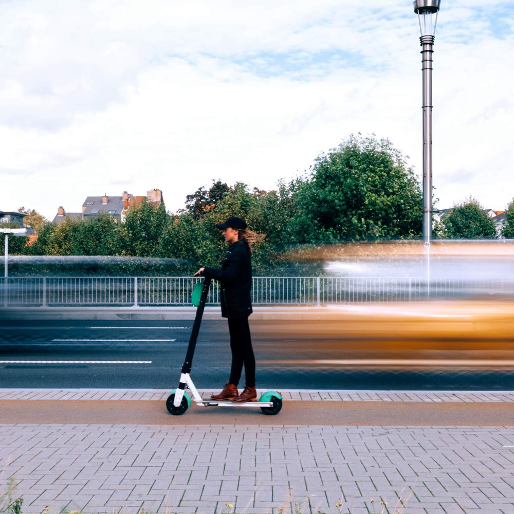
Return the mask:
[[[492,218],[476,198],[466,198],[455,204],[442,219],[444,235],[451,239],[478,239],[496,237]]]

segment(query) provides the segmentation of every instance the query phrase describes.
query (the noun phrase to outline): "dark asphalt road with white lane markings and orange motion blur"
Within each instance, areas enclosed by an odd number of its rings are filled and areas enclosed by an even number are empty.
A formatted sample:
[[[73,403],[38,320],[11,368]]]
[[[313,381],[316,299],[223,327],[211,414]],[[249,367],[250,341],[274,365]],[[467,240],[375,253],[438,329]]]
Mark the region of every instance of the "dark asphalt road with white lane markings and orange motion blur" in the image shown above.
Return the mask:
[[[252,320],[258,387],[514,390],[510,331],[479,337],[461,321],[444,329],[438,321],[430,331],[419,323],[416,331],[381,323]],[[0,387],[171,388],[191,326],[191,320],[0,321]],[[204,320],[193,361],[196,387],[222,387],[229,371],[227,324]]]

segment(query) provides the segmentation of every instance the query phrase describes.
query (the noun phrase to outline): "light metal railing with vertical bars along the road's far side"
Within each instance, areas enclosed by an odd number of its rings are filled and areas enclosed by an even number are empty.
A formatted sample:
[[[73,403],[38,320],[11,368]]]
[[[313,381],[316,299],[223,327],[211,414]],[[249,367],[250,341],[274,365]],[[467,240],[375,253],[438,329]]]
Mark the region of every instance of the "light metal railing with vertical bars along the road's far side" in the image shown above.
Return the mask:
[[[0,278],[0,306],[190,305],[193,277]],[[419,277],[254,277],[254,305],[327,305],[415,301],[488,295],[514,296],[512,280]],[[213,281],[208,304],[219,305]]]

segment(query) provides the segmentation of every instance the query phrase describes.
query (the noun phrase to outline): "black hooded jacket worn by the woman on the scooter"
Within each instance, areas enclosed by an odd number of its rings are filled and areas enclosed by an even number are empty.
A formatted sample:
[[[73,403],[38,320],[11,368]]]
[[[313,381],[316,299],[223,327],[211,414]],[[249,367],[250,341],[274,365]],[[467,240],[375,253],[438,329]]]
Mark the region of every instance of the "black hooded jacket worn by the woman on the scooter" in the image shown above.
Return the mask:
[[[224,318],[239,318],[252,313],[252,263],[246,242],[236,241],[228,247],[222,269],[206,267],[202,274],[221,282]]]

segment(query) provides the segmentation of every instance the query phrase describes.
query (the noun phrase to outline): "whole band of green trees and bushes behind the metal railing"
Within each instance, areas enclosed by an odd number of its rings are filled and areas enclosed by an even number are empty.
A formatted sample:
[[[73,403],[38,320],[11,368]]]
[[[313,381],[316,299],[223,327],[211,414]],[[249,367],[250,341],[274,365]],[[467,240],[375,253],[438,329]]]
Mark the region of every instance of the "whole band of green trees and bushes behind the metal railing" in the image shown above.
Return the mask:
[[[37,229],[38,239],[27,245],[26,238],[11,237],[10,253],[147,259],[115,264],[98,258],[81,264],[59,261],[68,274],[186,275],[198,265],[219,263],[225,244],[215,224],[238,214],[252,230],[266,234],[254,247],[256,275],[316,275],[320,269],[315,264],[302,259],[295,264],[287,258],[289,252],[311,252],[326,243],[419,239],[421,196],[419,180],[391,141],[358,134],[319,155],[303,175],[279,181],[271,191],[213,180],[210,187],[187,195],[185,208],[175,213],[142,203],[128,211],[124,223],[100,215],[88,222],[66,220],[54,226],[27,209],[25,219]],[[496,232],[492,219],[470,197],[436,223],[434,236],[494,238]],[[514,199],[507,208],[503,236],[514,236]],[[48,271],[44,264],[30,265],[31,273]]]

